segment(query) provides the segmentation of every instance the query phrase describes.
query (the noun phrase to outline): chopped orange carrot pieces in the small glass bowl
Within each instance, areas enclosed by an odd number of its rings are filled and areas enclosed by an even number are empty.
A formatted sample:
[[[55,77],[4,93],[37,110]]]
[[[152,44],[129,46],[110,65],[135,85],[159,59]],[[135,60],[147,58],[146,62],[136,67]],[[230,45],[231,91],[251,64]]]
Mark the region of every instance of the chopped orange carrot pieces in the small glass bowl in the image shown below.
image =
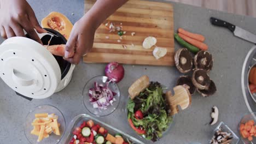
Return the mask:
[[[244,139],[252,141],[253,137],[256,137],[256,125],[254,125],[253,119],[247,121],[246,123],[241,123],[239,129],[240,134]]]

